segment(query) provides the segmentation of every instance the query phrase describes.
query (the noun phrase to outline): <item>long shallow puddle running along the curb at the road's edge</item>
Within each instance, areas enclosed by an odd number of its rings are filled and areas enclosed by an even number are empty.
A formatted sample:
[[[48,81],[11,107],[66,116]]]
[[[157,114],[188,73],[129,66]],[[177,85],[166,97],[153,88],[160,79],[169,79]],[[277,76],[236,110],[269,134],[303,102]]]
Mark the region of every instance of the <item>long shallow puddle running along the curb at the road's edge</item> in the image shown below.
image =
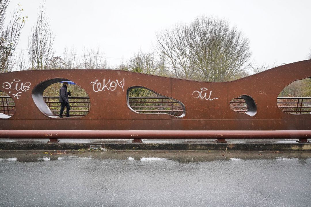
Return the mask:
[[[124,160],[128,162],[167,162],[181,163],[243,160],[311,160],[309,151],[0,151],[0,162],[63,162],[81,160]]]

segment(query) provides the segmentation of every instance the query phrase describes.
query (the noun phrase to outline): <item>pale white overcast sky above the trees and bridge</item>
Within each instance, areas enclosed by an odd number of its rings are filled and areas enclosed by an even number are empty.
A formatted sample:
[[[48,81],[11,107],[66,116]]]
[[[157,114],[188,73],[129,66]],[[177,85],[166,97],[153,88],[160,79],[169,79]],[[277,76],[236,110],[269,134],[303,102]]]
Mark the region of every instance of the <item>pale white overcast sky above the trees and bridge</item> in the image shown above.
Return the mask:
[[[7,12],[21,4],[28,16],[15,52],[28,48],[30,29],[42,0],[12,0]],[[46,13],[55,34],[55,56],[74,45],[100,48],[110,66],[139,49],[152,51],[156,32],[196,16],[228,20],[249,38],[251,61],[291,63],[305,60],[311,49],[311,1],[183,1],[183,0],[47,0]]]

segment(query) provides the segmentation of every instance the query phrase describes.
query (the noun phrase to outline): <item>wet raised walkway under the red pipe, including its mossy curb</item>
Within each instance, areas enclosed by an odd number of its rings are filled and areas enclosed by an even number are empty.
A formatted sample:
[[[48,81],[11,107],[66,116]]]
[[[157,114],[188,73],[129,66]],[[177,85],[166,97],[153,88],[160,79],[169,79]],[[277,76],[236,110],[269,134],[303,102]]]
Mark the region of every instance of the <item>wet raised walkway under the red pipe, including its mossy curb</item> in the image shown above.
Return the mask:
[[[101,145],[114,150],[232,150],[232,151],[311,151],[311,143],[299,143],[295,139],[227,139],[217,143],[214,139],[0,139],[2,150],[77,150]]]

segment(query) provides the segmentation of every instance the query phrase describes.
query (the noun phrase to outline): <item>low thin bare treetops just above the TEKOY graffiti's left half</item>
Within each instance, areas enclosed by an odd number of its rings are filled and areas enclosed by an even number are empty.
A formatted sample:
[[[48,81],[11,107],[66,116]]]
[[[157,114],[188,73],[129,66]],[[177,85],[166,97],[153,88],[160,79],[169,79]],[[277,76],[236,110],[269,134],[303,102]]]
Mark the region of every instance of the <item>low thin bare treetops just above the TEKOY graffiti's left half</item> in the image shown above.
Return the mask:
[[[108,67],[104,52],[100,51],[100,47],[96,50],[84,48],[81,61],[82,69],[106,69]]]

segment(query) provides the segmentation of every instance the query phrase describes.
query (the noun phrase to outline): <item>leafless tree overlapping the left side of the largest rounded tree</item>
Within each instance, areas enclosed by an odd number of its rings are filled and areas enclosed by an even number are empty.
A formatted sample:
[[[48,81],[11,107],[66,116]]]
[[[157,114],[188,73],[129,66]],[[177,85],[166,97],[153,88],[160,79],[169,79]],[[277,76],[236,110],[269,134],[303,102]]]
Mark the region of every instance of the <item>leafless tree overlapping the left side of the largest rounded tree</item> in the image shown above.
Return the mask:
[[[155,50],[165,60],[168,69],[176,78],[192,79],[194,74],[188,29],[186,25],[179,24],[156,35]]]

